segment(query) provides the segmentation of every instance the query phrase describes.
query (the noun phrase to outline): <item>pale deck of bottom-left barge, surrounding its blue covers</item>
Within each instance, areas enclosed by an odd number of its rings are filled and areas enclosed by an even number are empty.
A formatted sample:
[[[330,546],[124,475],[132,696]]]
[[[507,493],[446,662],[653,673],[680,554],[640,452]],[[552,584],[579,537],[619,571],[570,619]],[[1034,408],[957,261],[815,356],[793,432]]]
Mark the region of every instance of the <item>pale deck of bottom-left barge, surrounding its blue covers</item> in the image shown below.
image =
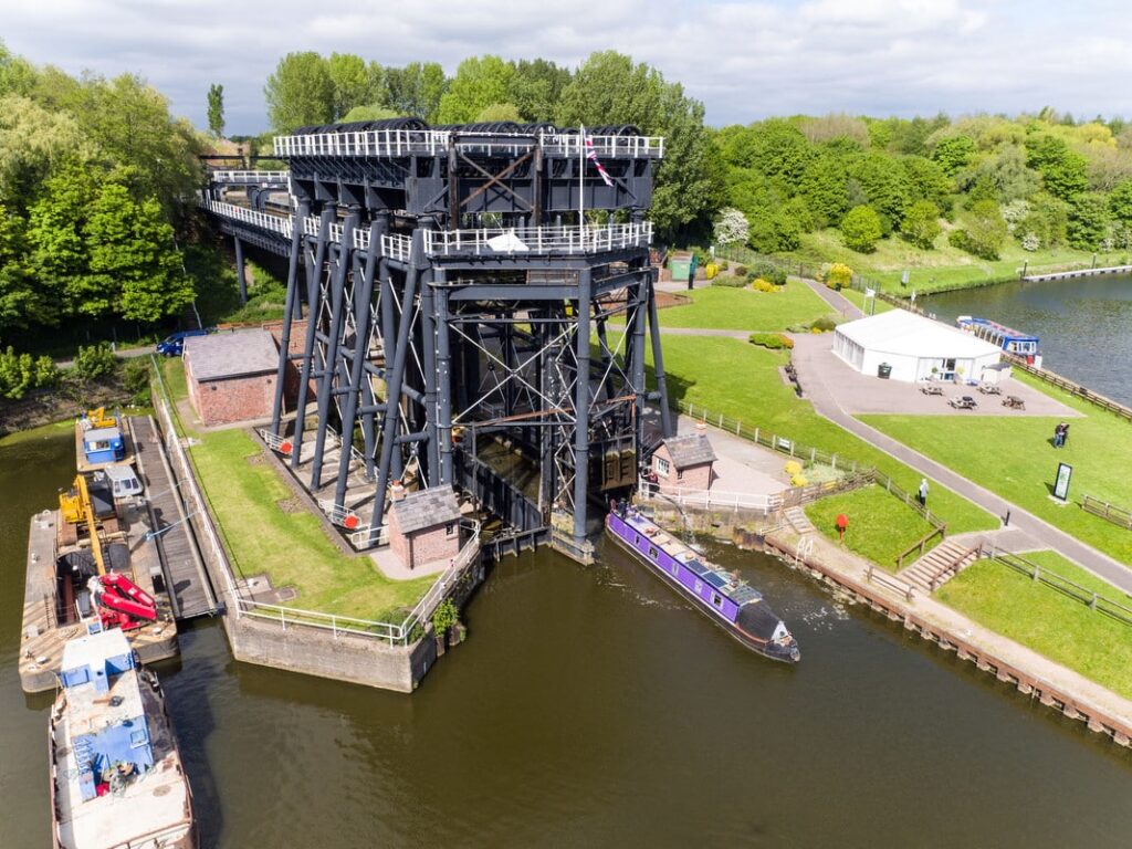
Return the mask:
[[[62,711],[52,727],[59,842],[66,849],[140,847],[151,846],[151,841],[153,846],[190,847],[191,795],[162,704],[148,685],[138,681],[136,672],[121,676],[112,692],[119,688],[123,692],[132,688],[134,698],[140,698],[144,705],[154,765],[129,782],[120,795],[106,794],[83,801],[77,778],[79,764],[70,739],[85,729],[72,728],[69,711]]]

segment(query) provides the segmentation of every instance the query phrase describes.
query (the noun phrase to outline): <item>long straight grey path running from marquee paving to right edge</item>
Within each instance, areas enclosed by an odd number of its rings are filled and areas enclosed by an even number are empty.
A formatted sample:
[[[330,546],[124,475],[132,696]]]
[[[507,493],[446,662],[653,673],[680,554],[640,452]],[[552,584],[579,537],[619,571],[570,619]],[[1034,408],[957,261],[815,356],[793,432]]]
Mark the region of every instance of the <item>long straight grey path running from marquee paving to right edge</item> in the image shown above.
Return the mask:
[[[1132,593],[1132,569],[1124,564],[1054,528],[1048,522],[1038,518],[1022,507],[1006,501],[1002,496],[995,495],[978,483],[963,478],[961,474],[957,474],[945,465],[924,456],[919,452],[912,451],[892,437],[855,419],[840,406],[835,393],[826,385],[821,369],[814,369],[804,385],[806,387],[806,397],[813,402],[814,410],[818,414],[841,426],[850,434],[859,436],[885,454],[895,457],[904,465],[911,466],[920,474],[938,481],[947,489],[974,501],[992,515],[1003,518],[1010,513],[1010,526],[1022,531],[1039,547],[1052,548],[1125,592]],[[1070,508],[1066,507],[1066,509]]]

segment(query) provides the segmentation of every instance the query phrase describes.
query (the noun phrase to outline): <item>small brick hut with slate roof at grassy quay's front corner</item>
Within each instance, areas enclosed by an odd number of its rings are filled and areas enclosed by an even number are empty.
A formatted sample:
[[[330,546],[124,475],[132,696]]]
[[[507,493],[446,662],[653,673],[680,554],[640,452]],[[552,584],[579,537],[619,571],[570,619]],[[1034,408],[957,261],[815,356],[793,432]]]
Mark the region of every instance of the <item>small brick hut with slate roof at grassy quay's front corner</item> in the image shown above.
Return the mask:
[[[410,569],[460,554],[460,501],[434,487],[397,497],[388,514],[389,548]]]

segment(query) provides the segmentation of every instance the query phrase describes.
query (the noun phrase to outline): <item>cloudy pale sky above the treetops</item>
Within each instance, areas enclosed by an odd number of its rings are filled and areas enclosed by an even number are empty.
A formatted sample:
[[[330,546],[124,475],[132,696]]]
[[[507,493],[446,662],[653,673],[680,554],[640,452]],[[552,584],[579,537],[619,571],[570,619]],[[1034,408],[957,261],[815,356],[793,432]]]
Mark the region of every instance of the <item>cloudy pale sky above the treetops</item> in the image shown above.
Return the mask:
[[[0,0],[14,52],[67,71],[142,74],[205,125],[266,129],[263,85],[297,50],[383,65],[466,55],[568,66],[615,49],[679,80],[713,125],[832,111],[1132,117],[1127,0]]]

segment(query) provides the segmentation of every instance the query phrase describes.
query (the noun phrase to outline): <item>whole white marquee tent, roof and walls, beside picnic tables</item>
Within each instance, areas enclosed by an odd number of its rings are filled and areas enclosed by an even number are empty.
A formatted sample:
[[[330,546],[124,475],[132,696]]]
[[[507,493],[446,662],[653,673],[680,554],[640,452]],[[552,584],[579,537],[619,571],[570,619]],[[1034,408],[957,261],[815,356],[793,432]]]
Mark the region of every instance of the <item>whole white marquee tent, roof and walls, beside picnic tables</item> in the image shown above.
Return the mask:
[[[833,353],[863,375],[890,366],[893,380],[981,380],[1002,350],[958,327],[893,309],[839,325]]]

